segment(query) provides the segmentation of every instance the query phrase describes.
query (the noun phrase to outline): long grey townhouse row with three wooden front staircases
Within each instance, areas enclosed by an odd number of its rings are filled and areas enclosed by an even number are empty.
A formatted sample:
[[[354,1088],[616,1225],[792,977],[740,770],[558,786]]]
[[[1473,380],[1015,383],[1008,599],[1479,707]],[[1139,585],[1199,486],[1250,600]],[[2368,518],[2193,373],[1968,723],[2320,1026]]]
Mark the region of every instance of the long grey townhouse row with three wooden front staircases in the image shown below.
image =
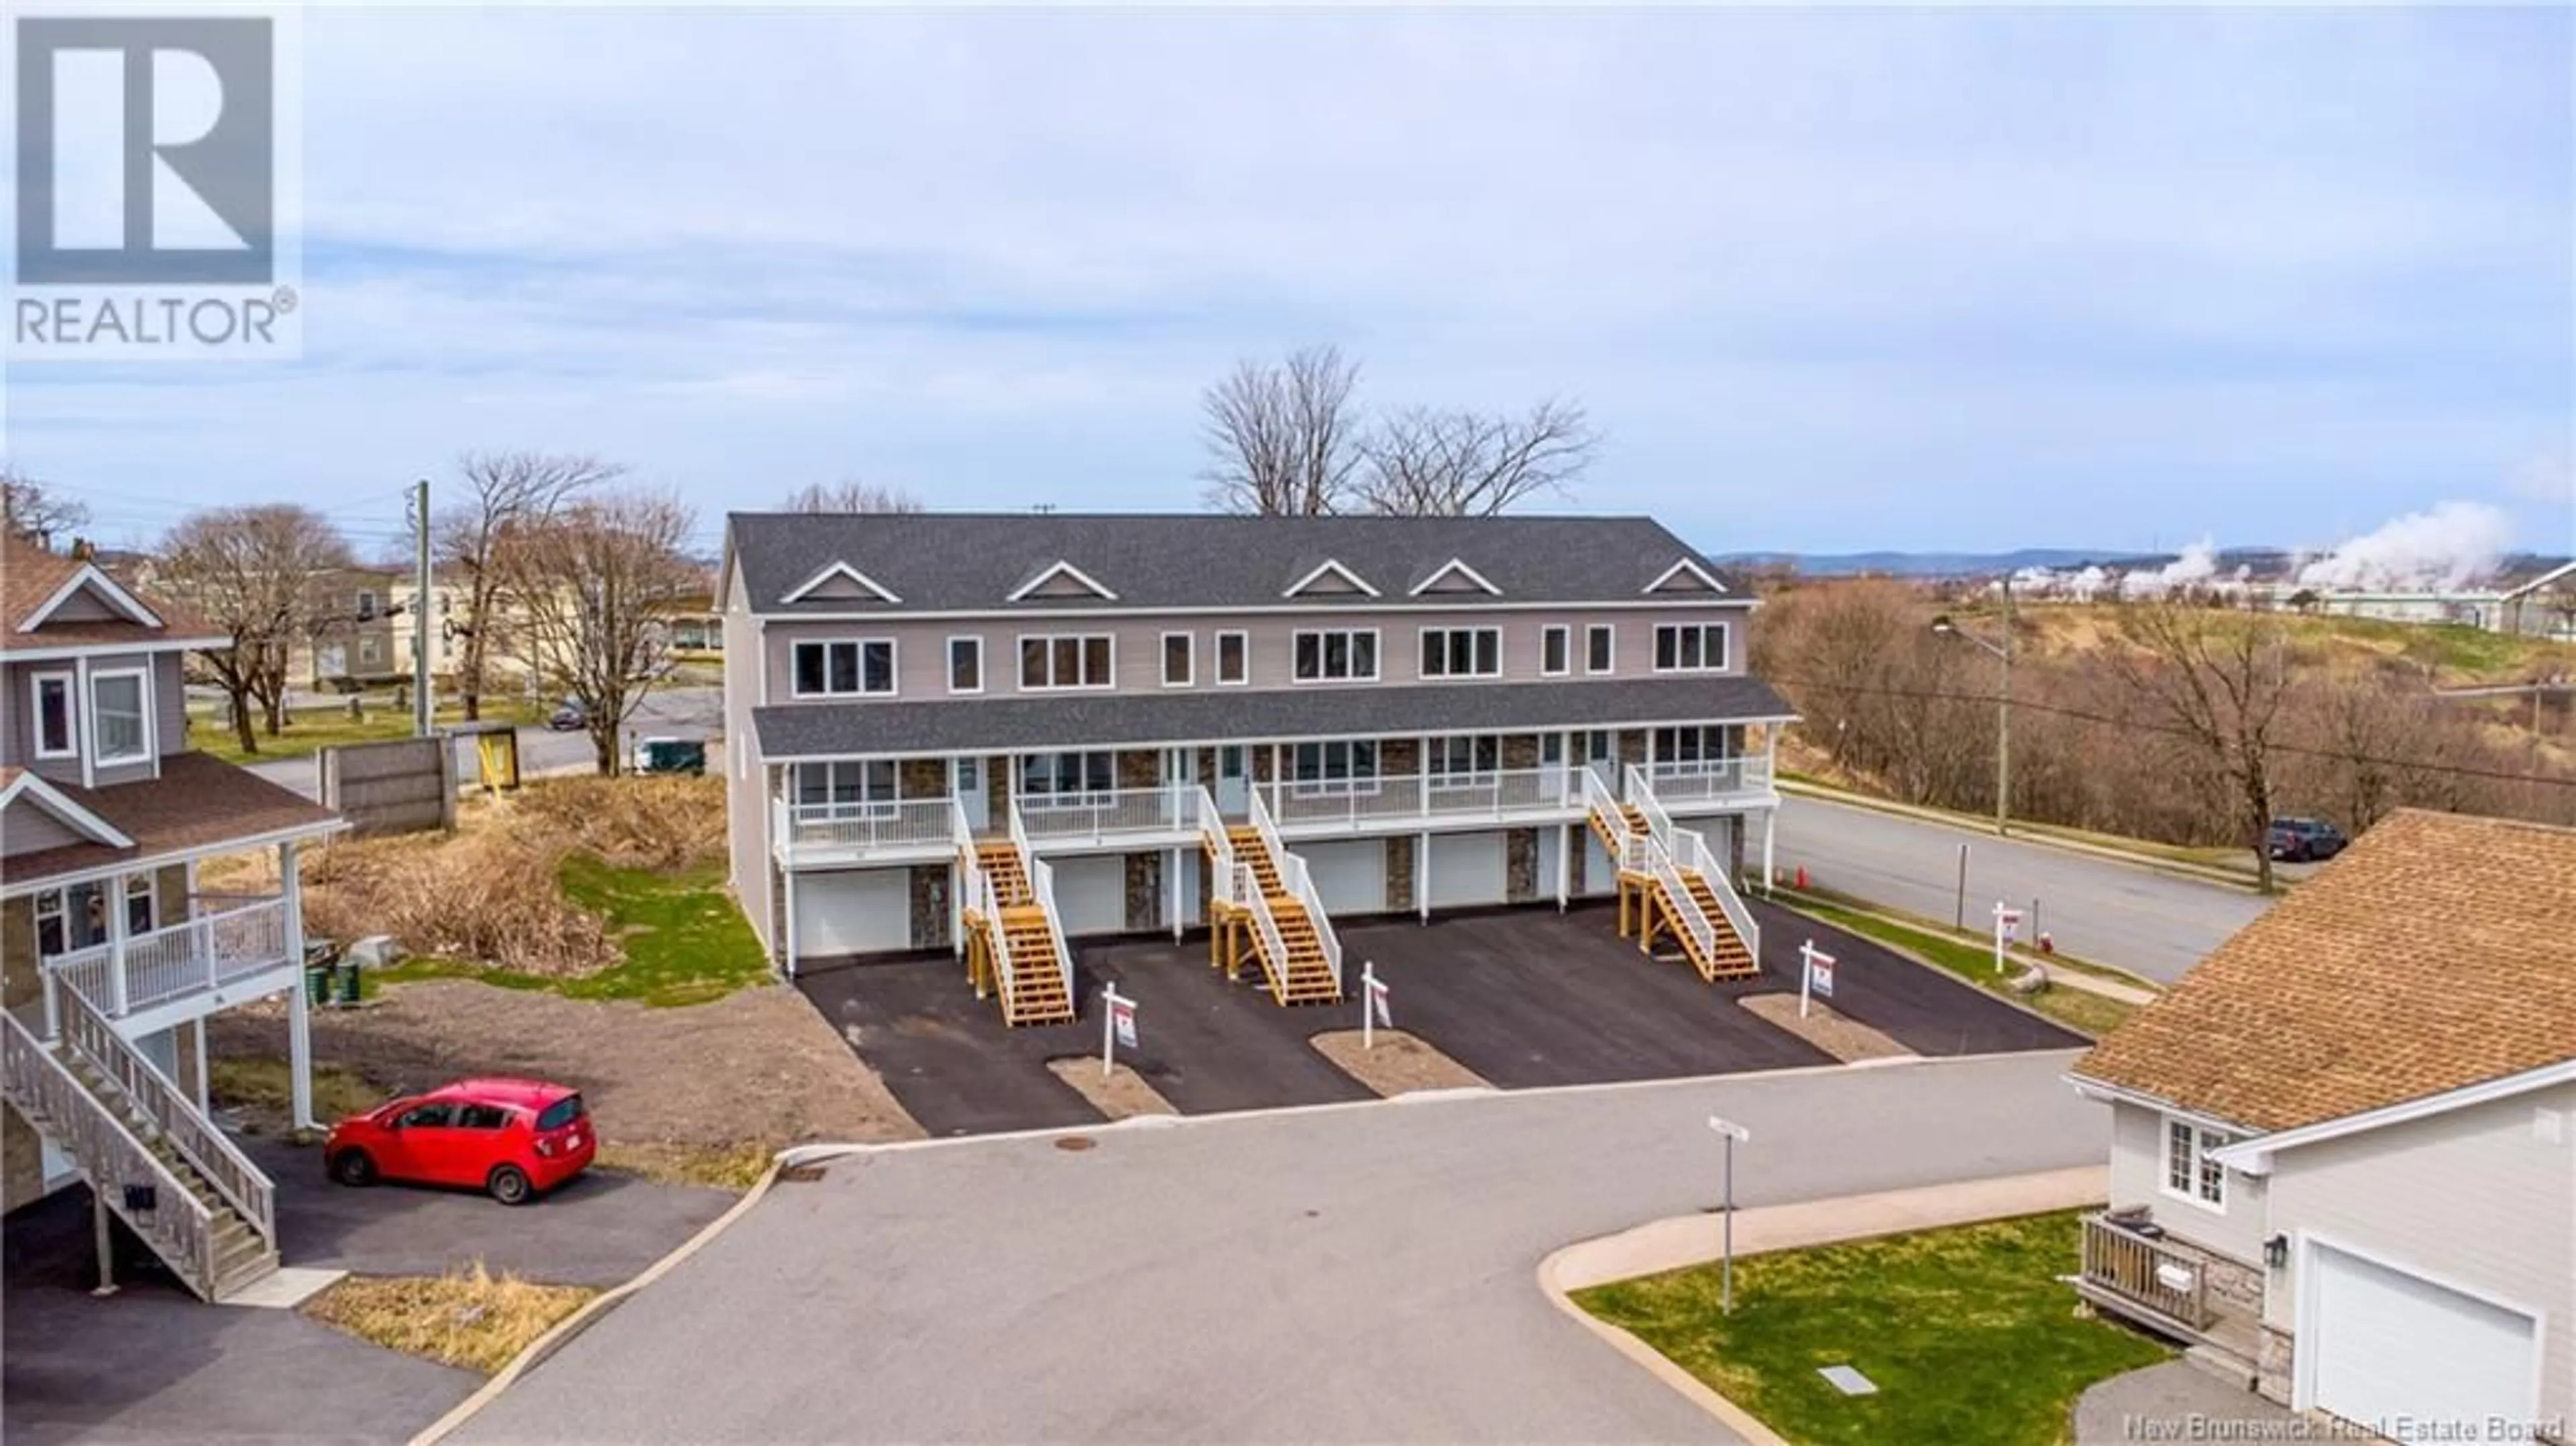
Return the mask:
[[[788,972],[956,949],[1061,1018],[1069,938],[1211,928],[1334,998],[1337,915],[1623,884],[1747,964],[1790,709],[1654,521],[737,513],[719,595],[732,874]]]

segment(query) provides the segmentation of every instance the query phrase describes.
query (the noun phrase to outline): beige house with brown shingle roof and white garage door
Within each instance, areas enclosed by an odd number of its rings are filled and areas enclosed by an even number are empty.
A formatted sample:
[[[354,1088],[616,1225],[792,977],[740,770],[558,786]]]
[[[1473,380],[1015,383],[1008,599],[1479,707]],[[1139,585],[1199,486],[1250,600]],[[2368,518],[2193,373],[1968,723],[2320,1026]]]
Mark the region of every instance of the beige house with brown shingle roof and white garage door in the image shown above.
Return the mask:
[[[2576,1438],[2576,830],[2398,812],[2069,1077],[2089,1302],[2391,1438]]]

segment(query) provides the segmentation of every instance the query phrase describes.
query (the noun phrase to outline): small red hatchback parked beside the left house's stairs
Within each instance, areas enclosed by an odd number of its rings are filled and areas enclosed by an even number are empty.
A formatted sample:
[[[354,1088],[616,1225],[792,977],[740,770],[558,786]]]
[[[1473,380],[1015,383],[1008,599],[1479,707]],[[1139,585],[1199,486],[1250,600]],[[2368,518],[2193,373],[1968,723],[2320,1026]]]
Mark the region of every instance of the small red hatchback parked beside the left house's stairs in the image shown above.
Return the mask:
[[[580,1175],[598,1147],[577,1090],[544,1080],[456,1080],[330,1126],[322,1162],[343,1186],[417,1181],[528,1204]]]

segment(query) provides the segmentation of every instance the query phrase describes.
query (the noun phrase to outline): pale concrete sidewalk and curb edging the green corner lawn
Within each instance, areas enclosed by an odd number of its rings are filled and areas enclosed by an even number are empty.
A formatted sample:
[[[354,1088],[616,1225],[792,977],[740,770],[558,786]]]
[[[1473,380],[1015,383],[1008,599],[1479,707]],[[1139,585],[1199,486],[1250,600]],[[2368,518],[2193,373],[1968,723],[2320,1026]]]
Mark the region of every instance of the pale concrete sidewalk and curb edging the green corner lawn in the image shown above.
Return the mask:
[[[2110,1168],[2079,1165],[2071,1170],[1996,1175],[1989,1181],[1958,1181],[1950,1186],[1883,1191],[1875,1196],[1839,1196],[1785,1206],[1739,1209],[1736,1255],[1806,1250],[1811,1245],[1904,1235],[1909,1229],[1937,1229],[1947,1224],[2009,1219],[2017,1214],[2084,1209],[2107,1199]],[[1579,1240],[1538,1263],[1538,1289],[1548,1297],[1548,1304],[1571,1315],[1584,1330],[1605,1340],[1620,1356],[1643,1366],[1646,1374],[1680,1392],[1682,1400],[1698,1405],[1744,1441],[1752,1441],[1754,1446],[1788,1446],[1777,1431],[1765,1425],[1741,1405],[1713,1392],[1708,1382],[1700,1382],[1690,1371],[1674,1366],[1654,1345],[1646,1345],[1628,1330],[1574,1304],[1574,1291],[1582,1289],[1633,1281],[1638,1276],[1659,1276],[1687,1266],[1705,1266],[1721,1255],[1723,1229],[1723,1217],[1682,1214],[1654,1219],[1618,1235]]]

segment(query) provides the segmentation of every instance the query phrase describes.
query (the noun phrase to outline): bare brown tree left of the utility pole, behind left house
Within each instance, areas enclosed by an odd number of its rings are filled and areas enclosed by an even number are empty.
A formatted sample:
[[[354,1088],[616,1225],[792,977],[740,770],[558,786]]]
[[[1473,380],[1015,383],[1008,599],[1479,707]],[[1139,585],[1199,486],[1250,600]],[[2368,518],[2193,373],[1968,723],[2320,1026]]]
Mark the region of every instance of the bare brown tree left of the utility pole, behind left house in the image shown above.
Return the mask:
[[[268,735],[286,724],[286,660],[314,634],[312,580],[350,564],[322,513],[286,503],[191,513],[160,546],[162,588],[229,637],[206,665],[232,704],[242,753],[258,753],[250,704]]]

